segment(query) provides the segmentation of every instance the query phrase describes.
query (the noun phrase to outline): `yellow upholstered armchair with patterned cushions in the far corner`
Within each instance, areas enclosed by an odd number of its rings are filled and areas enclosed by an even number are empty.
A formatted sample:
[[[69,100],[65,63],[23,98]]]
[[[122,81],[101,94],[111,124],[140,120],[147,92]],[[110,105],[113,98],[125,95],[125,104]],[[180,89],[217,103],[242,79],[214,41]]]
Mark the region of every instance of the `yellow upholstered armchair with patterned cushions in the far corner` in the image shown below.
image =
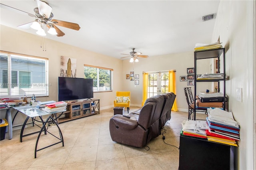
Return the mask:
[[[127,107],[129,113],[130,109],[130,91],[116,91],[116,99],[114,100],[114,107]]]

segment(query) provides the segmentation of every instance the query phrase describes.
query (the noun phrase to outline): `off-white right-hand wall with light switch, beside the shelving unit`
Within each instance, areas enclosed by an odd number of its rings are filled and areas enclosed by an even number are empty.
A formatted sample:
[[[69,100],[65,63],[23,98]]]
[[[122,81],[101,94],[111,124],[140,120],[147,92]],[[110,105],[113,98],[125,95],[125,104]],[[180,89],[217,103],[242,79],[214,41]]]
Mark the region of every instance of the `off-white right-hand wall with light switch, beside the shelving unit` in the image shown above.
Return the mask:
[[[253,113],[248,112],[248,98],[252,94],[247,93],[248,78],[248,28],[247,28],[247,1],[220,1],[216,23],[212,39],[217,40],[226,48],[226,73],[230,80],[226,83],[226,93],[229,96],[229,111],[232,111],[234,119],[240,123],[239,144],[239,169],[248,169],[247,162],[253,162],[253,148],[248,148],[247,140],[248,118],[253,119]],[[252,62],[252,61],[249,61]],[[249,70],[250,71],[250,70]],[[242,88],[242,102],[236,100],[236,88]],[[251,89],[250,89],[251,90]],[[255,105],[255,103],[254,103]]]

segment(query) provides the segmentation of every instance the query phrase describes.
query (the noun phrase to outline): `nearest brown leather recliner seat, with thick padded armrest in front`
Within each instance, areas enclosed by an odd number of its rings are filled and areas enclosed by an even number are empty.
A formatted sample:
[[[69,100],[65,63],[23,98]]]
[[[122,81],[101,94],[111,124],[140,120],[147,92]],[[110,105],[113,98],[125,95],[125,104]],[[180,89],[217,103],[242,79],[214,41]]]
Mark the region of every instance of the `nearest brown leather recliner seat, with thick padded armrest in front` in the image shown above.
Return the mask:
[[[163,105],[163,96],[153,96],[145,101],[139,115],[134,114],[130,119],[114,115],[109,125],[112,140],[130,146],[145,146],[152,138],[161,134],[159,119]]]

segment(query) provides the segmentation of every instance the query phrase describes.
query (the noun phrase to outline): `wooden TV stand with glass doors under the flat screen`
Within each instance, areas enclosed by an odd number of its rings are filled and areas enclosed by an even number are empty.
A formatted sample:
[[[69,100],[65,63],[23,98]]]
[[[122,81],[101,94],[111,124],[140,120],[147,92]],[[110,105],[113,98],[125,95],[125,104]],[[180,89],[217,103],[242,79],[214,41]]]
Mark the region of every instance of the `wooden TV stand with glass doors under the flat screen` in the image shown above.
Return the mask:
[[[88,99],[83,101],[68,102],[67,111],[59,118],[58,123],[71,121],[81,117],[100,114],[100,99]],[[58,113],[59,116],[61,113]]]

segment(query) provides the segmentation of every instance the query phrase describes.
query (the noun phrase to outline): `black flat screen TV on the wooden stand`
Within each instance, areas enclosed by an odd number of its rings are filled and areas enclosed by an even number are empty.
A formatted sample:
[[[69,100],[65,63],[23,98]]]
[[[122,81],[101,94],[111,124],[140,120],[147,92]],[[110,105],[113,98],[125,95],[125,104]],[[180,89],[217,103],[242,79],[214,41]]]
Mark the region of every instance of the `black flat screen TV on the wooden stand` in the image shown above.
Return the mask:
[[[58,77],[58,101],[93,98],[93,79]]]

